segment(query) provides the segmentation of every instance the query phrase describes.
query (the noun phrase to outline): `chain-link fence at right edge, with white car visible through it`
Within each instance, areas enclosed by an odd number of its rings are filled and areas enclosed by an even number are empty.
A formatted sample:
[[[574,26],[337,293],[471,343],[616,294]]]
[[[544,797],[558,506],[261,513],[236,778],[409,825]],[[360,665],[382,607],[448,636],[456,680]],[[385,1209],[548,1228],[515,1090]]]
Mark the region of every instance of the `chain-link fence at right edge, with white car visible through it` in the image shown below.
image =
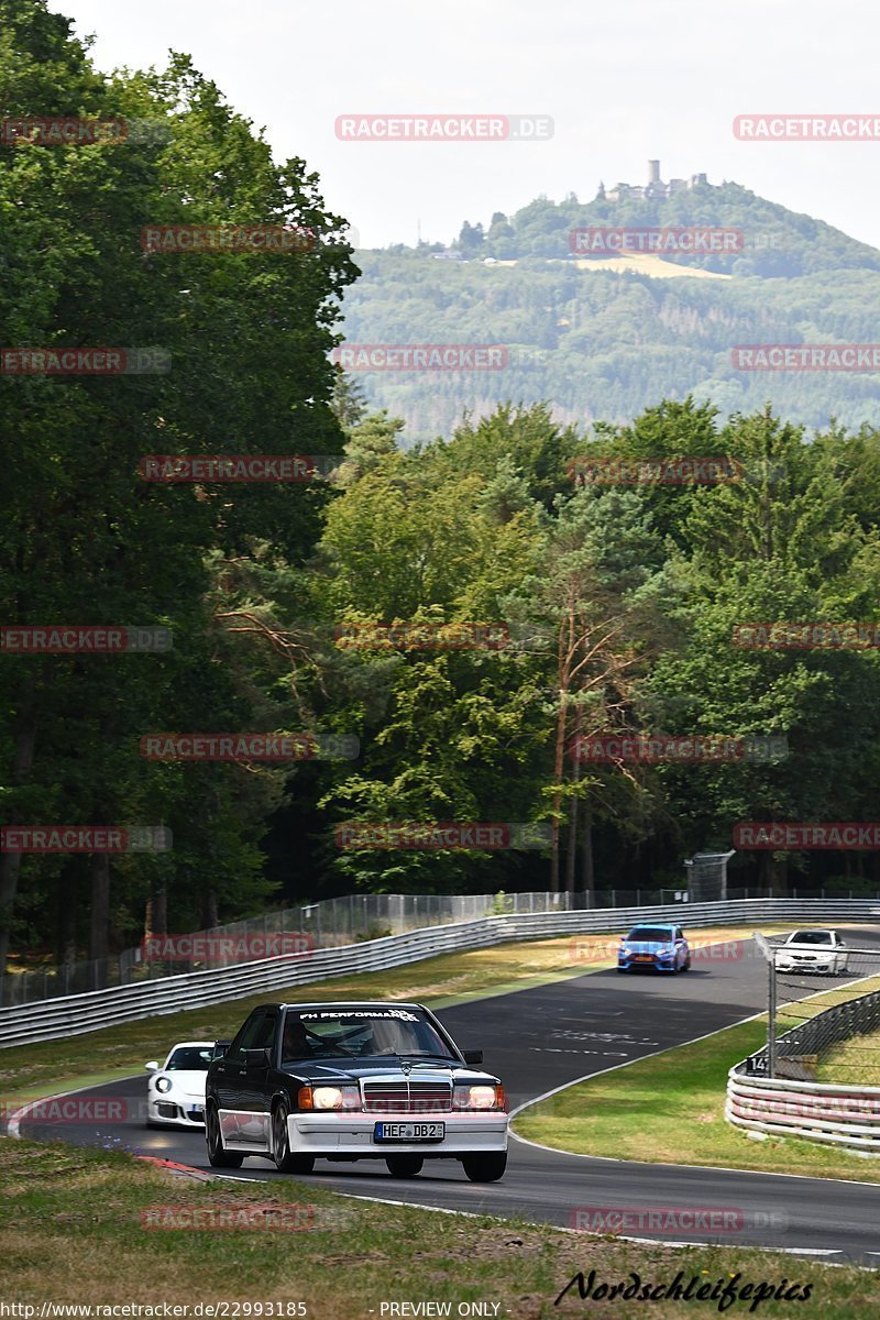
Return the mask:
[[[768,1041],[753,1076],[880,1085],[880,946],[847,929],[756,937],[768,972]]]

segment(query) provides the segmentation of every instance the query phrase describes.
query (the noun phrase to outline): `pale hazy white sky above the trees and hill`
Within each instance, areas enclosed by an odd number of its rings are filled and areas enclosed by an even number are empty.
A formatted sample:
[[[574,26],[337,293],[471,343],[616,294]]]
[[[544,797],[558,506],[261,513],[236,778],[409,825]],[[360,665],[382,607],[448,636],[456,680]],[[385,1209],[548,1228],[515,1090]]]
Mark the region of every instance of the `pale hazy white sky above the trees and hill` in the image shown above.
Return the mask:
[[[187,51],[276,158],[302,156],[364,247],[449,242],[540,194],[706,172],[880,247],[880,141],[736,141],[738,114],[877,114],[880,18],[855,0],[50,0],[100,67]],[[347,143],[338,115],[550,115],[545,143]]]

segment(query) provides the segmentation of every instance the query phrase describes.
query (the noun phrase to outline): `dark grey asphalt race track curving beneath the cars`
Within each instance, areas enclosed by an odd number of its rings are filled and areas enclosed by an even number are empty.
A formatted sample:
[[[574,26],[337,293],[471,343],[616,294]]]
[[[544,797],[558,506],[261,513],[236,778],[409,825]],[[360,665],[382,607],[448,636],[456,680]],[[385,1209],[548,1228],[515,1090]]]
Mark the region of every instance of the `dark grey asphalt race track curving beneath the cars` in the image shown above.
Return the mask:
[[[880,931],[859,927],[851,946],[880,949]],[[438,1016],[462,1048],[483,1048],[484,1064],[504,1081],[516,1109],[526,1101],[581,1077],[632,1059],[683,1044],[731,1026],[765,1008],[767,966],[751,941],[738,941],[739,957],[694,962],[691,972],[672,977],[620,975],[616,970],[439,1010]],[[803,994],[827,985],[802,977]],[[153,1057],[174,1041],[157,1039]],[[112,1146],[140,1155],[178,1160],[208,1170],[202,1131],[146,1129],[145,1074],[98,1086],[82,1094],[124,1097],[128,1122],[96,1126],[70,1122],[55,1126],[28,1122],[22,1137]],[[846,1172],[842,1159],[842,1175]],[[284,1177],[265,1159],[247,1159],[240,1171],[224,1176],[270,1180]],[[318,1162],[303,1184],[355,1196],[381,1197],[414,1205],[471,1213],[519,1216],[563,1226],[583,1226],[578,1210],[613,1208],[724,1209],[738,1216],[736,1229],[719,1234],[691,1232],[625,1232],[658,1241],[719,1241],[753,1243],[815,1253],[833,1261],[851,1259],[880,1267],[880,1168],[877,1185],[747,1173],[731,1170],[635,1164],[623,1160],[566,1155],[512,1138],[508,1170],[495,1184],[468,1183],[454,1160],[426,1160],[416,1179],[392,1179],[381,1162],[330,1164]]]

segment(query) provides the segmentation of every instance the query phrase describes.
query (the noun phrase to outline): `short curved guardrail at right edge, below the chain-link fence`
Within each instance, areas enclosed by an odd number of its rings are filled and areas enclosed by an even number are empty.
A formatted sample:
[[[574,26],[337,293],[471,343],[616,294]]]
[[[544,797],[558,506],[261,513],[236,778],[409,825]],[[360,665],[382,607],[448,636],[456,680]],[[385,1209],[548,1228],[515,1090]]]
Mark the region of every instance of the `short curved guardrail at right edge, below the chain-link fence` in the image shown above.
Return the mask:
[[[834,1005],[776,1041],[778,1059],[827,1051],[831,1044],[880,1027],[880,990]],[[880,1086],[763,1077],[760,1049],[727,1074],[728,1123],[753,1133],[802,1137],[880,1155]]]

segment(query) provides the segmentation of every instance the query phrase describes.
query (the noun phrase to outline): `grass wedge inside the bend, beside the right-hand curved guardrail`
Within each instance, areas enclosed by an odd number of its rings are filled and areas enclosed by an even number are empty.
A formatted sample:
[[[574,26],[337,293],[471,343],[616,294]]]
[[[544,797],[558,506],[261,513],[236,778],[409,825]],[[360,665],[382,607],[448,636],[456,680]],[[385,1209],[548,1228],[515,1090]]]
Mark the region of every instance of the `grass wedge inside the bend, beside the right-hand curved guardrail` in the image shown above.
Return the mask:
[[[524,1110],[515,1131],[582,1155],[880,1183],[880,1160],[792,1138],[752,1140],[724,1121],[728,1069],[765,1039],[763,1020],[745,1022],[624,1064]]]

